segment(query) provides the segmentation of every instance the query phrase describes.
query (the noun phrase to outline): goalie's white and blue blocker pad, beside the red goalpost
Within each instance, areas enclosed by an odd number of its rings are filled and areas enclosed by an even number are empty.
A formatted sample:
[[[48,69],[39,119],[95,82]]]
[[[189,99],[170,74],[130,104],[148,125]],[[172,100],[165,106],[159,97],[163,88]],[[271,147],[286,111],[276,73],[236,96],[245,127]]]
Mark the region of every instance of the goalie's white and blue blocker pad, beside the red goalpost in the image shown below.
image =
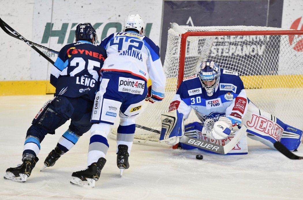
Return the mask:
[[[172,110],[161,115],[162,129],[160,142],[169,145],[179,143],[180,137],[184,135],[184,115],[178,110]]]

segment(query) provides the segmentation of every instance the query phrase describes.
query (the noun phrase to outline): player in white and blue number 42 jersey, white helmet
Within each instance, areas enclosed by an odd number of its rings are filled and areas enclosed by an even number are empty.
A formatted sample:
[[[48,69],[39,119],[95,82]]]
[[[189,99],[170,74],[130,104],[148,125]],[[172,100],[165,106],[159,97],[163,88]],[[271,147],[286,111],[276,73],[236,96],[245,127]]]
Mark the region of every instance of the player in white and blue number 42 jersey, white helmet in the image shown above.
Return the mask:
[[[145,100],[164,98],[165,74],[160,61],[159,48],[145,36],[145,23],[140,15],[128,15],[124,31],[103,39],[101,46],[107,51],[102,68],[102,81],[95,97],[93,123],[88,149],[88,168],[72,174],[71,183],[93,187],[98,180],[108,151],[107,136],[116,116],[120,123],[117,134],[117,166],[128,169],[134,133],[135,118]],[[152,84],[147,88],[147,80]]]

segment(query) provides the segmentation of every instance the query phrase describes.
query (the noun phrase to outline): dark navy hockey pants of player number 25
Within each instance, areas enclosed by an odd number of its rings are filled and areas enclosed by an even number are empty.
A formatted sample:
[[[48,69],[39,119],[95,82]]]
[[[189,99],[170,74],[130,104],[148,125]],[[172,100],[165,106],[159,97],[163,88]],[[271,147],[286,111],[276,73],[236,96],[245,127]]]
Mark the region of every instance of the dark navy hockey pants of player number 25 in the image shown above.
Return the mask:
[[[46,134],[55,134],[55,130],[69,119],[71,119],[69,129],[82,136],[92,126],[90,120],[93,103],[83,97],[71,98],[62,95],[55,97],[39,116],[33,119],[26,137],[35,136],[41,143]]]

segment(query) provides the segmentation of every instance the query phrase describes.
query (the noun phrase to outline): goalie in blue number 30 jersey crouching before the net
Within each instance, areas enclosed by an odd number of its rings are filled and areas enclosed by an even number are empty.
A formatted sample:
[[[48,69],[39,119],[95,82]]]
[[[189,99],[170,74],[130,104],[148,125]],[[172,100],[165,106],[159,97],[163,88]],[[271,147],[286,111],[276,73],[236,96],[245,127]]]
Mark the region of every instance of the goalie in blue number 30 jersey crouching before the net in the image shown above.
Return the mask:
[[[199,73],[182,81],[169,112],[161,115],[161,142],[194,149],[197,145],[185,142],[184,138],[197,138],[199,144],[205,141],[198,149],[218,153],[205,147],[227,146],[233,141],[231,150],[221,153],[228,155],[247,154],[247,136],[273,149],[276,141],[290,151],[298,148],[302,130],[259,110],[247,98],[237,72],[222,69],[213,61],[202,62],[200,67]],[[201,122],[184,125],[191,109]]]

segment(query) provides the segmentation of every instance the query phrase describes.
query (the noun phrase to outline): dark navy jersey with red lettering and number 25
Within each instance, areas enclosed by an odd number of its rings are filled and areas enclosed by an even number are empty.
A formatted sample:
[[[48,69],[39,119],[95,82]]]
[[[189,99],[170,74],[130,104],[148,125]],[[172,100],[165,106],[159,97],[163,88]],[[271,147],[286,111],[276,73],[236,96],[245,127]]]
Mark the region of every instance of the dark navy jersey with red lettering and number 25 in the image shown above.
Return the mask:
[[[95,99],[106,50],[88,41],[65,45],[52,67],[50,82],[55,95]]]

